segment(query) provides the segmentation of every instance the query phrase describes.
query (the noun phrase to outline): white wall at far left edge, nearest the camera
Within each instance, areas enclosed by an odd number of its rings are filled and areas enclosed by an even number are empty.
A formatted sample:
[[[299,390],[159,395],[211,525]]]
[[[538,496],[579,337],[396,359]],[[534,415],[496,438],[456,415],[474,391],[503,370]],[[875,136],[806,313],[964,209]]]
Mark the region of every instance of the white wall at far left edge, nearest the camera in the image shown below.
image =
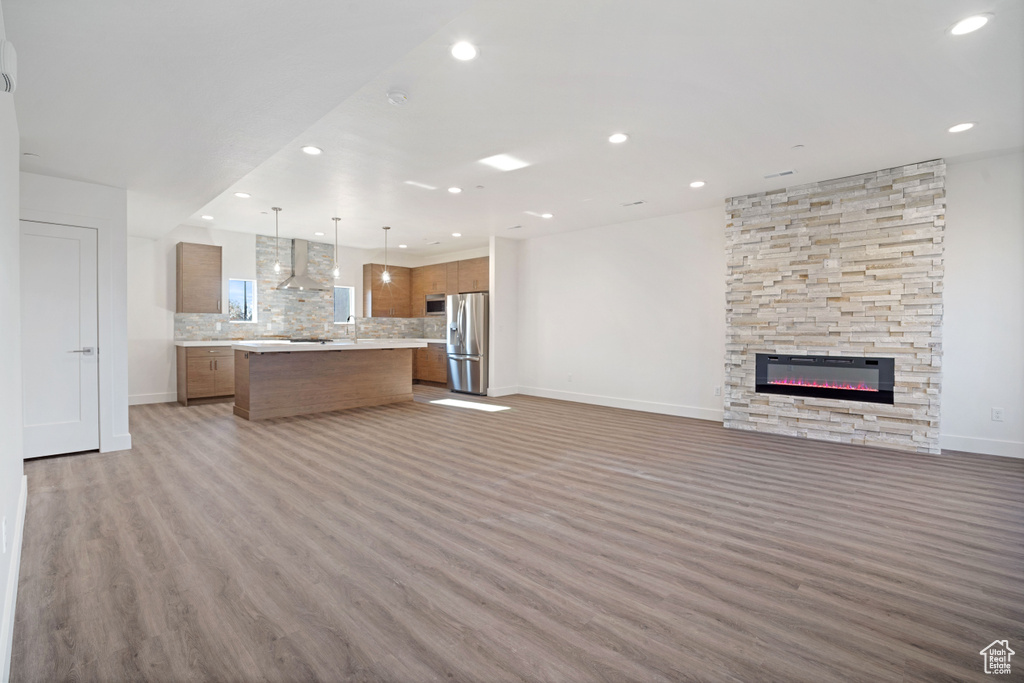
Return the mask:
[[[3,38],[0,11],[0,38]],[[14,605],[25,520],[25,476],[22,465],[22,299],[20,230],[17,224],[20,162],[14,96],[0,93],[0,518],[7,526],[7,546],[0,548],[0,680],[10,671]]]

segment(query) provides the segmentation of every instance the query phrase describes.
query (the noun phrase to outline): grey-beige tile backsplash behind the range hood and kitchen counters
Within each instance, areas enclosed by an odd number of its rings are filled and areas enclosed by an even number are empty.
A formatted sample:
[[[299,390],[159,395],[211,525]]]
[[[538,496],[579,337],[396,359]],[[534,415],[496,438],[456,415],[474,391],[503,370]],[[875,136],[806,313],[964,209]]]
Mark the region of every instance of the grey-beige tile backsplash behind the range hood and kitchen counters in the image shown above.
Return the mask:
[[[309,243],[309,275],[331,282],[333,248]],[[444,318],[358,317],[351,325],[335,325],[334,293],[286,292],[278,289],[286,275],[274,272],[273,238],[256,237],[256,323],[231,323],[227,313],[175,313],[176,341],[293,338],[421,338],[444,337]],[[291,263],[292,243],[282,240],[281,262]],[[217,329],[217,325],[220,329]]]

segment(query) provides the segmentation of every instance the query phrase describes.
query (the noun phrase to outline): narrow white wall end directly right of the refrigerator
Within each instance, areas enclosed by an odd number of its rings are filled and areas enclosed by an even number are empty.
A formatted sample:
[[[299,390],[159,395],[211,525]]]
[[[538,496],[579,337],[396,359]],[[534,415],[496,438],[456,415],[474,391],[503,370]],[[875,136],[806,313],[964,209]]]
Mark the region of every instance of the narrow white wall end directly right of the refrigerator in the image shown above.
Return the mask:
[[[519,247],[490,238],[488,396],[519,393]]]

